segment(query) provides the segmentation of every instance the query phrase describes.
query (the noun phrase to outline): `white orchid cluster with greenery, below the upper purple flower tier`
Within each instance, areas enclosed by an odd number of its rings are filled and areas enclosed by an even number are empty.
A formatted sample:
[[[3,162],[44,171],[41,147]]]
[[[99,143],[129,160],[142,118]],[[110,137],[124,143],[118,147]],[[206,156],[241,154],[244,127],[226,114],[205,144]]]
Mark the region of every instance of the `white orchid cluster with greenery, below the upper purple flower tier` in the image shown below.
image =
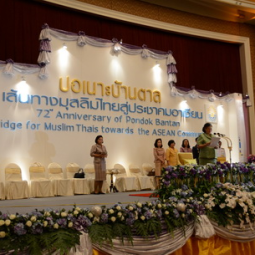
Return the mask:
[[[170,191],[170,201],[185,200],[195,208],[197,215],[206,214],[218,225],[231,229],[239,225],[241,229],[251,228],[255,223],[255,186],[253,183],[235,185],[217,183],[210,189],[203,186],[190,189],[187,185]]]

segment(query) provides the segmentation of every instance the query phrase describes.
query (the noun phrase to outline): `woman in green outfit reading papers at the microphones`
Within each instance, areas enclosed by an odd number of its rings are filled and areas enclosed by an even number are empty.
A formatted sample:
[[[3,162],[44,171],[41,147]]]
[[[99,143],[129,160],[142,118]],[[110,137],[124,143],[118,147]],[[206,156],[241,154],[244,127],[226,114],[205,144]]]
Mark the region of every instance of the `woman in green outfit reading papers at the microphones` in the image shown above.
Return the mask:
[[[203,134],[201,134],[197,139],[199,148],[199,164],[216,164],[215,148],[217,148],[216,143],[218,143],[218,138],[212,134],[212,124],[205,123],[202,131]]]

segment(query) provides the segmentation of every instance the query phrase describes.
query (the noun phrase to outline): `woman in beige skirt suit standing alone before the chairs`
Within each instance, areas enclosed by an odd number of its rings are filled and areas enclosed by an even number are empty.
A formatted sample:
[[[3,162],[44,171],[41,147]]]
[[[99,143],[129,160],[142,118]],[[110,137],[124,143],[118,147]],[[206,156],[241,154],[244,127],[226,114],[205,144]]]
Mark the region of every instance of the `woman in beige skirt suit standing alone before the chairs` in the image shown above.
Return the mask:
[[[104,194],[102,192],[103,182],[106,180],[106,163],[107,150],[103,145],[103,136],[98,135],[95,143],[90,150],[90,156],[94,157],[95,168],[95,191],[94,194]]]

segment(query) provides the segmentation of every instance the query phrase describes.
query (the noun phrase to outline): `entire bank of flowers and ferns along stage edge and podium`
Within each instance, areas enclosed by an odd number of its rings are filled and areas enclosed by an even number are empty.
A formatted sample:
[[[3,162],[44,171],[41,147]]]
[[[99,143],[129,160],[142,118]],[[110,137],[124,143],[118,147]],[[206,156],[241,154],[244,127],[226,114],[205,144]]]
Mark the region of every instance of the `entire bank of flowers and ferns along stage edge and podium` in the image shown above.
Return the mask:
[[[167,167],[157,191],[159,199],[151,202],[90,210],[74,206],[68,211],[35,210],[24,215],[0,212],[0,252],[66,254],[79,245],[83,232],[98,245],[112,244],[113,239],[132,243],[134,236],[185,231],[203,214],[224,227],[253,228],[254,175],[255,166],[249,163]]]

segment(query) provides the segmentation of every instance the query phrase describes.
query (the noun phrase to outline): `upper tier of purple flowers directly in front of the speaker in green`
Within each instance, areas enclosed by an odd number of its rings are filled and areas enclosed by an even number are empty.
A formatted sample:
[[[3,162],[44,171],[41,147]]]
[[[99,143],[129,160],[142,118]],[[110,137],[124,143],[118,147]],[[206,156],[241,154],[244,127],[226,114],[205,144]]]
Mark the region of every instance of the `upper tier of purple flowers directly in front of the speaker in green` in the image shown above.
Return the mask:
[[[164,199],[171,195],[173,189],[181,188],[183,184],[195,189],[201,186],[210,189],[219,182],[237,184],[254,182],[254,179],[255,165],[250,163],[168,166],[162,170],[161,186],[157,194]]]

